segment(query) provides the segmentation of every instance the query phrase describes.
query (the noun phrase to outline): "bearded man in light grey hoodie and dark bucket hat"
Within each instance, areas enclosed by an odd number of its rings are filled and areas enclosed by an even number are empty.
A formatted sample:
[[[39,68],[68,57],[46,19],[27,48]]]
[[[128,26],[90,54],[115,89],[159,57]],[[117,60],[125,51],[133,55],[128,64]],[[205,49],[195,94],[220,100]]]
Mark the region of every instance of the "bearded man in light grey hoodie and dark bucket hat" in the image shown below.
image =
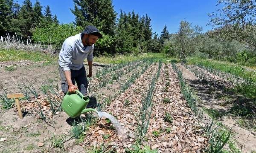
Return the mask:
[[[84,60],[87,58],[89,73],[92,76],[94,44],[102,38],[99,30],[94,26],[86,26],[85,30],[75,36],[67,38],[59,53],[59,73],[61,89],[66,93],[74,92],[77,87],[83,95],[87,95],[87,78]],[[77,86],[75,86],[75,82]]]

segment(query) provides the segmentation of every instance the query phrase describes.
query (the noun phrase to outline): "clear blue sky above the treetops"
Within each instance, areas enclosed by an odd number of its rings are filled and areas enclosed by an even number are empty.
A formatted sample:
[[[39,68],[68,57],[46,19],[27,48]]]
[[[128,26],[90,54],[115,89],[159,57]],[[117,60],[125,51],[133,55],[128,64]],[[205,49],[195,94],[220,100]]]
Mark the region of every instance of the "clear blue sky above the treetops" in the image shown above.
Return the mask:
[[[43,7],[50,5],[52,14],[56,14],[60,23],[74,21],[75,17],[70,8],[74,8],[73,0],[39,0]],[[23,0],[18,0],[21,4]],[[34,4],[35,0],[31,0]],[[212,27],[206,26],[209,22],[208,13],[217,10],[217,0],[113,0],[117,13],[122,9],[125,12],[147,14],[152,20],[152,31],[160,35],[163,26],[167,26],[170,33],[176,33],[181,20],[192,22],[193,25],[203,27],[206,32]],[[117,16],[119,17],[119,15]]]

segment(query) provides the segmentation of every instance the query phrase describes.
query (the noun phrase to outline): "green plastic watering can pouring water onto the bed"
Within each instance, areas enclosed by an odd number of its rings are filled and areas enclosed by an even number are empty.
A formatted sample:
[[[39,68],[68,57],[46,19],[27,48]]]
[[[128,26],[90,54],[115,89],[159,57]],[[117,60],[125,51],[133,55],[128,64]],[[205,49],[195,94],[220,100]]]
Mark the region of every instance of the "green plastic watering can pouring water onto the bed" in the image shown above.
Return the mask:
[[[75,90],[74,94],[67,92],[63,97],[61,107],[71,118],[76,118],[90,111],[97,112],[96,109],[86,108],[89,101],[89,97],[84,97],[79,90]]]

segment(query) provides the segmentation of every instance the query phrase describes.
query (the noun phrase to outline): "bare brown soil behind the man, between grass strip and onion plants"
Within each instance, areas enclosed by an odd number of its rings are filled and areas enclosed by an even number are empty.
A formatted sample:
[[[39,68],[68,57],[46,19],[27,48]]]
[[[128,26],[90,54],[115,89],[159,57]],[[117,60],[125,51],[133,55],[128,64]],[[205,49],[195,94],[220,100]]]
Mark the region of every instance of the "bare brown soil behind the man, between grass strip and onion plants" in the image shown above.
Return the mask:
[[[11,63],[11,62],[9,62]],[[98,64],[99,65],[99,64]],[[100,64],[93,66],[93,74],[96,70],[104,66]],[[86,71],[88,71],[88,65],[85,65]],[[61,87],[61,81],[59,76],[58,64],[42,64],[42,63],[30,63],[28,66],[17,66],[16,70],[9,71],[5,68],[0,68],[0,85],[6,90],[8,94],[13,94],[20,92],[18,84],[23,84],[29,86],[29,82],[34,86],[34,88],[40,92],[41,85],[48,81],[49,79],[55,80],[58,83],[58,87]],[[3,92],[2,87],[0,87],[0,92]]]

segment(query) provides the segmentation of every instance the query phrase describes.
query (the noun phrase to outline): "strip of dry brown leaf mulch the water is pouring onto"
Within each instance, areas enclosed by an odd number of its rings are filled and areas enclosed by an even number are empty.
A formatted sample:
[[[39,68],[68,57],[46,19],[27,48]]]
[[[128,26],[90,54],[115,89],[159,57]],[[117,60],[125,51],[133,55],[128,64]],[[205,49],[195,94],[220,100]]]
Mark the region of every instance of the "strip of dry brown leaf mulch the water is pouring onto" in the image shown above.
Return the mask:
[[[107,142],[109,142],[109,147],[115,148],[118,152],[123,152],[125,147],[130,148],[132,146],[135,140],[134,131],[136,130],[133,124],[135,124],[136,121],[131,110],[138,112],[137,106],[140,105],[141,102],[141,93],[147,90],[152,74],[156,74],[156,71],[157,64],[151,65],[134,84],[112,101],[110,106],[107,106],[106,109],[103,110],[117,117],[126,131],[126,136],[120,137],[115,130],[109,130],[109,125],[106,125],[104,119],[102,119],[98,123],[98,127],[91,127],[89,129],[87,132],[88,135],[84,139],[84,146],[93,146],[101,142],[107,144]],[[129,101],[129,106],[124,105],[125,100]],[[103,135],[106,134],[110,135],[108,139],[103,138]]]

